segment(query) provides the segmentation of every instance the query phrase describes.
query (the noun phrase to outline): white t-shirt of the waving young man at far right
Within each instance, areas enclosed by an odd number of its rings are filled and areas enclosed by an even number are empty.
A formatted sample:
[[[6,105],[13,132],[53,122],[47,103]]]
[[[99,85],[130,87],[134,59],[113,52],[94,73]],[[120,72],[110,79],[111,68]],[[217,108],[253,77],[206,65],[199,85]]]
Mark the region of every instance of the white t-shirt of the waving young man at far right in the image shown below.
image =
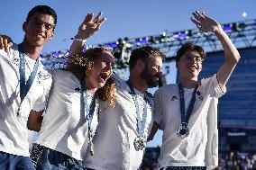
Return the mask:
[[[196,103],[188,121],[189,136],[178,137],[181,126],[178,85],[165,85],[154,94],[154,121],[163,130],[160,167],[217,166],[217,103],[225,93],[216,75],[203,79],[196,93]],[[194,89],[185,89],[186,111]]]

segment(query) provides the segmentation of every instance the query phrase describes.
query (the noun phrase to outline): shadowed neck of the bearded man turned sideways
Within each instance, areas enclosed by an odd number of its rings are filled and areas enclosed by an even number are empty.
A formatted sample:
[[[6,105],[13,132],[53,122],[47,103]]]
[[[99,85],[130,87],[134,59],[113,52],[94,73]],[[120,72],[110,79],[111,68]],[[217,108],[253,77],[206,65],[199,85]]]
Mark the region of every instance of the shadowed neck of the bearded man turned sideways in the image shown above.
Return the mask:
[[[137,75],[138,74],[131,74],[129,77],[130,82],[133,88],[135,88],[139,92],[145,93],[148,89],[148,85],[146,85],[145,81]]]

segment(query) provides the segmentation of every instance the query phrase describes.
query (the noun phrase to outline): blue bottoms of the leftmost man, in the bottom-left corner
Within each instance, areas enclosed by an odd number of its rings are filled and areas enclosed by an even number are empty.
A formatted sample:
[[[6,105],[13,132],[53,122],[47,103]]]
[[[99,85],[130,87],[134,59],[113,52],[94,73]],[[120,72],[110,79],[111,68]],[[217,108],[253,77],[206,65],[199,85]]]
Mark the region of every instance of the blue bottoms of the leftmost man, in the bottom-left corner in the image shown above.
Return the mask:
[[[35,170],[30,157],[15,156],[0,151],[0,169]]]

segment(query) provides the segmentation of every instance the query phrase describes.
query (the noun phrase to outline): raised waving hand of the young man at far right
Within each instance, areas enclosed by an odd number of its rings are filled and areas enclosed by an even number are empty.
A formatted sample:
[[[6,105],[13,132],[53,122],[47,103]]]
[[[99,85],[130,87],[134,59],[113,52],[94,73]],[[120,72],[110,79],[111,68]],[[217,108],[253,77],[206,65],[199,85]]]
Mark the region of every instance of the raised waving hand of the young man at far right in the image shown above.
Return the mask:
[[[190,18],[192,22],[197,25],[197,28],[201,31],[219,31],[222,29],[221,25],[215,21],[215,19],[210,18],[205,12],[199,13],[198,11],[192,13],[195,18]]]

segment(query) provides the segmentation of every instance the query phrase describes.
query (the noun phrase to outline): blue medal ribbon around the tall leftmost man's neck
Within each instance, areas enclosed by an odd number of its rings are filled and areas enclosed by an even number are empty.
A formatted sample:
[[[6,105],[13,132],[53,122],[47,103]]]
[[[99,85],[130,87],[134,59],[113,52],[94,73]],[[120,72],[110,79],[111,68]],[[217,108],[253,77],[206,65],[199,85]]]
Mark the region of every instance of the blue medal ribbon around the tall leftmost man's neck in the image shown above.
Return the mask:
[[[39,59],[36,59],[36,62],[33,66],[32,69],[32,73],[28,78],[28,81],[26,82],[25,80],[25,54],[22,48],[22,45],[19,44],[18,46],[18,50],[19,50],[19,57],[20,57],[20,98],[21,98],[21,105],[23,103],[23,100],[25,98],[25,96],[28,94],[31,86],[32,86],[32,82],[36,76],[37,70],[38,70],[38,66],[39,66]]]

